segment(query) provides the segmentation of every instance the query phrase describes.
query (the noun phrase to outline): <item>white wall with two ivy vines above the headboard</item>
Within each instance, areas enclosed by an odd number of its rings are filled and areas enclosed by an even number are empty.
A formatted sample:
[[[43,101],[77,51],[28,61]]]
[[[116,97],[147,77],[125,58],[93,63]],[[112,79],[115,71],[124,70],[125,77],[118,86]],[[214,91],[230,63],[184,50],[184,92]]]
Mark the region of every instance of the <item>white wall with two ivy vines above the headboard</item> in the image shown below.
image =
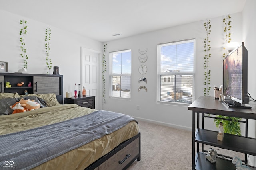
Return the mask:
[[[44,37],[45,29],[47,27],[52,29],[50,58],[52,59],[52,66],[59,66],[60,74],[63,75],[64,96],[66,91],[73,92],[74,84],[80,82],[81,46],[96,51],[103,49],[101,42],[3,10],[0,10],[0,20],[0,61],[8,62],[8,72],[10,73],[17,72],[24,65],[20,57],[20,20],[28,22],[28,33],[25,36],[25,41],[29,58],[27,60],[27,72],[30,74],[47,74]],[[50,74],[52,72],[53,70]]]

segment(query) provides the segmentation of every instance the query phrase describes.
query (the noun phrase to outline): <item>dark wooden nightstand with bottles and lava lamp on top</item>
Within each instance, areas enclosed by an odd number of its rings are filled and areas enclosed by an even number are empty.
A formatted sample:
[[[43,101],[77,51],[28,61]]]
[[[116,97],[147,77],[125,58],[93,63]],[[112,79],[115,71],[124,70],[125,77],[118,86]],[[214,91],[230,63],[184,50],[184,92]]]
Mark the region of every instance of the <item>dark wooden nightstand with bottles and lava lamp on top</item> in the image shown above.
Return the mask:
[[[77,104],[82,107],[95,109],[95,96],[64,98],[64,104],[70,104],[70,103]]]

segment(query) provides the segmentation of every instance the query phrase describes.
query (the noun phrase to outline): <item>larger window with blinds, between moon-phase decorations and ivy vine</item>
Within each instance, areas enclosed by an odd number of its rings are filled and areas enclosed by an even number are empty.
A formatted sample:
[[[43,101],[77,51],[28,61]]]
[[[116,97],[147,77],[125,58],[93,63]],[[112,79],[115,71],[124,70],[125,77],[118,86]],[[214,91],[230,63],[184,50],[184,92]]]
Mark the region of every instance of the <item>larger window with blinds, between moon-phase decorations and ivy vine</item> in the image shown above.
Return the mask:
[[[158,101],[192,103],[195,40],[158,45]]]

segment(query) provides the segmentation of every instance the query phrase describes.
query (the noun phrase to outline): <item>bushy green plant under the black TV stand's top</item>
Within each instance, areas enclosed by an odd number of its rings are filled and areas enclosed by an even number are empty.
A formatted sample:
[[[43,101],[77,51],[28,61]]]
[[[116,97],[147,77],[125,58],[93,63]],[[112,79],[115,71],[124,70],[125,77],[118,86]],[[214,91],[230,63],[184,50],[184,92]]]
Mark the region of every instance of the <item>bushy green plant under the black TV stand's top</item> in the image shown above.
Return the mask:
[[[220,122],[222,122],[224,133],[229,133],[229,134],[233,134],[233,135],[241,135],[240,122],[238,122],[241,120],[241,118],[220,116],[220,115],[218,115],[216,117],[222,118],[222,119],[214,119],[214,123],[215,123],[216,127],[219,127]]]

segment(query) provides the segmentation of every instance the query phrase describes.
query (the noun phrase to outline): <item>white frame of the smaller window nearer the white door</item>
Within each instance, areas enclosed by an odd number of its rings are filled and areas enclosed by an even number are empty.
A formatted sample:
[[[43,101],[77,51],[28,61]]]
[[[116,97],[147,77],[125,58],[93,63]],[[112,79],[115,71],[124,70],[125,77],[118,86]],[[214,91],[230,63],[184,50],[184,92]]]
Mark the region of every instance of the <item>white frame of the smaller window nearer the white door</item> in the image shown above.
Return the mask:
[[[131,100],[132,98],[132,69],[131,69],[131,73],[130,74],[113,74],[113,60],[112,60],[112,56],[113,53],[126,53],[126,52],[130,52],[131,53],[131,67],[132,67],[132,49],[124,49],[124,50],[118,50],[118,51],[111,51],[109,52],[109,65],[110,65],[110,71],[109,71],[109,98],[115,98],[115,99],[122,99],[122,100]],[[112,96],[112,77],[114,76],[130,76],[130,98],[125,98],[125,97],[118,97],[118,96]],[[121,85],[122,86],[122,85]]]

